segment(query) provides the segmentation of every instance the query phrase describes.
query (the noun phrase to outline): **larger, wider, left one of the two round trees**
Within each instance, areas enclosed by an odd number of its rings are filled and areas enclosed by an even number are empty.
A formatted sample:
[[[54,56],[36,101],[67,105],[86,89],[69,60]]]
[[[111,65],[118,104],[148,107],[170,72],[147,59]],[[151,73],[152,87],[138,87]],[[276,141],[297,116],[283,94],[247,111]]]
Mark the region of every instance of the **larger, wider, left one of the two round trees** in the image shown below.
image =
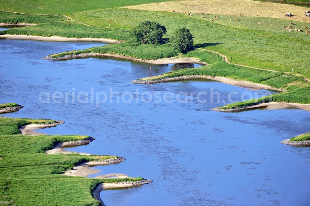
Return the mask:
[[[132,29],[132,34],[137,38],[137,41],[142,44],[157,44],[166,32],[166,27],[154,21],[141,22],[137,27]]]

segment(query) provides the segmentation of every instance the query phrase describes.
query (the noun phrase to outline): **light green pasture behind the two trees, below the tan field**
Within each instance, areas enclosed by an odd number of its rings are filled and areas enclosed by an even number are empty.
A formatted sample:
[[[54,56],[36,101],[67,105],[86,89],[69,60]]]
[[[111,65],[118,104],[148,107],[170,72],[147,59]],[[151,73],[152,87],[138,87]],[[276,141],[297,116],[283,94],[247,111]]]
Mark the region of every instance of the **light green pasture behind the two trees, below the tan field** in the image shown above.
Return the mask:
[[[131,29],[146,19],[156,20],[166,26],[167,37],[177,28],[186,26],[195,37],[196,47],[220,52],[233,63],[286,72],[294,67],[296,72],[310,77],[308,62],[305,61],[308,58],[306,50],[310,46],[310,38],[305,32],[288,33],[282,29],[271,33],[225,26],[172,12],[124,8],[79,12],[76,15],[91,25],[106,27],[109,19],[112,21],[111,27],[124,29]],[[293,49],[292,45],[299,49]]]

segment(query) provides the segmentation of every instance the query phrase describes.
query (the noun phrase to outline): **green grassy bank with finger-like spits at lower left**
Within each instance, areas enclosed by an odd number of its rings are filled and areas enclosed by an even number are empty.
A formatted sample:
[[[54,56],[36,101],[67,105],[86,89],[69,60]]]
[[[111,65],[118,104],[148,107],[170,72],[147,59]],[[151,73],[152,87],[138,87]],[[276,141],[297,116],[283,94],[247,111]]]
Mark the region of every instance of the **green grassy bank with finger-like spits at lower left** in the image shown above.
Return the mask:
[[[143,178],[93,179],[60,175],[85,161],[117,156],[49,155],[58,142],[82,140],[88,136],[17,134],[18,127],[53,120],[0,118],[0,203],[1,205],[99,206],[91,191],[103,182],[138,181]]]

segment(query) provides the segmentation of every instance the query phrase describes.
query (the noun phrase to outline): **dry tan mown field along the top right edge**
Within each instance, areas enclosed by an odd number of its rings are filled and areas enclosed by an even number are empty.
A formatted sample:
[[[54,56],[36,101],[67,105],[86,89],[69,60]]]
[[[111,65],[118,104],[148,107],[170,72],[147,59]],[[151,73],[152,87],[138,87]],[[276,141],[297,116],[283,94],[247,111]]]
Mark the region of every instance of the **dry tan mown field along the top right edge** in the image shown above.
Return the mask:
[[[155,2],[128,6],[126,8],[169,12],[172,10],[179,12],[191,11],[199,14],[201,12],[206,12],[209,14],[243,15],[254,17],[259,15],[260,17],[272,17],[308,22],[308,18],[304,16],[304,11],[307,10],[305,7],[252,0],[183,0],[178,2]],[[285,14],[287,12],[292,13],[294,16],[286,17]]]

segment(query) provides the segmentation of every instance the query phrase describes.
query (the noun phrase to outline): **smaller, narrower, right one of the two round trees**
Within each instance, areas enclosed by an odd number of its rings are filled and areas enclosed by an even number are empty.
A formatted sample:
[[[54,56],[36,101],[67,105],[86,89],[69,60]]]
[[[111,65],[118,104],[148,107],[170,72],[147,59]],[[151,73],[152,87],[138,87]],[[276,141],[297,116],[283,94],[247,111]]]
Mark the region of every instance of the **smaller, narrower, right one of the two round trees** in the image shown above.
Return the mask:
[[[193,46],[193,35],[188,28],[179,28],[170,38],[170,42],[175,50],[186,53]]]

